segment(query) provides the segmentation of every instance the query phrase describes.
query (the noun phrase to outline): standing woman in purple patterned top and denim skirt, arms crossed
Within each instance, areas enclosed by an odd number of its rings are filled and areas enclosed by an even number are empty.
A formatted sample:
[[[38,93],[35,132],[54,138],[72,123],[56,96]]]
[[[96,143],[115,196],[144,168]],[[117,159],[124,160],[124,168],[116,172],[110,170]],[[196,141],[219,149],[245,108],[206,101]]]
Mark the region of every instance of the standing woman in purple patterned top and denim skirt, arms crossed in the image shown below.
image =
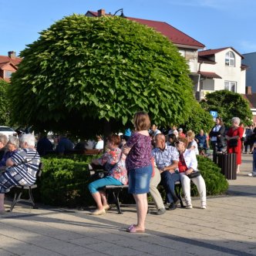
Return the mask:
[[[126,157],[126,168],[129,173],[128,192],[136,201],[137,224],[127,228],[130,233],[145,232],[147,216],[147,193],[150,191],[152,175],[150,117],[145,112],[138,112],[133,117],[135,132],[123,148]]]

